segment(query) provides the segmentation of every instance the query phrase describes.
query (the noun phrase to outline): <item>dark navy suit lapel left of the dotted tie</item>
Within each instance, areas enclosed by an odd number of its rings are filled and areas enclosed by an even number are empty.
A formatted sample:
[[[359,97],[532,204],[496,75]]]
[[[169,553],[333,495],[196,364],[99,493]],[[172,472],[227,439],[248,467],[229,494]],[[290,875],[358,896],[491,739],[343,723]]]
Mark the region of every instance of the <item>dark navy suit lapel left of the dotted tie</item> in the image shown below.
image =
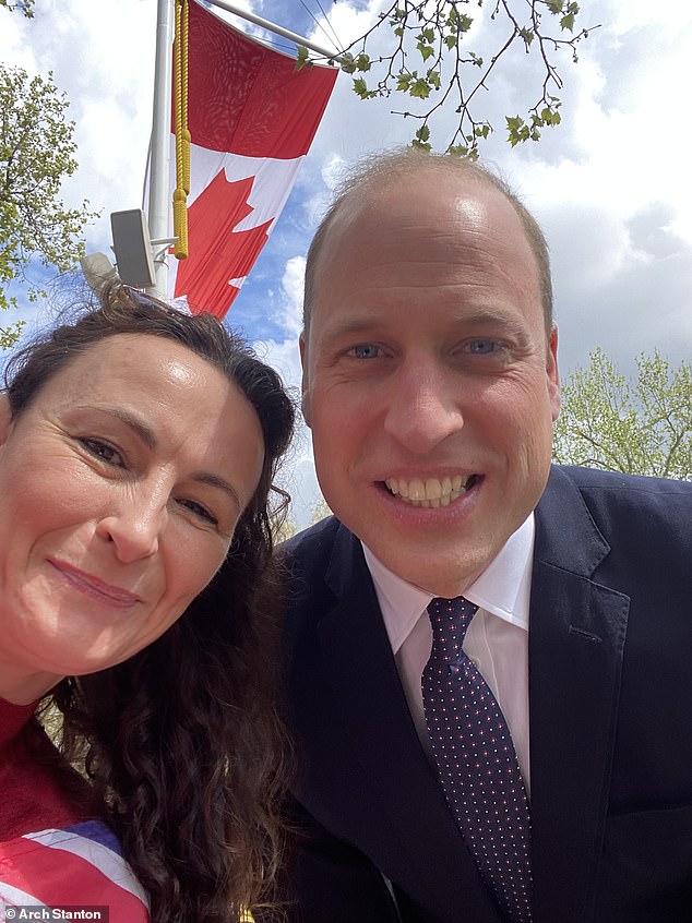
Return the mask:
[[[409,892],[425,889],[425,906],[440,920],[464,911],[475,923],[497,923],[420,746],[360,543],[343,527],[325,579],[337,603],[319,625],[323,662],[353,753],[391,818],[385,851],[397,856],[395,866],[414,870]]]

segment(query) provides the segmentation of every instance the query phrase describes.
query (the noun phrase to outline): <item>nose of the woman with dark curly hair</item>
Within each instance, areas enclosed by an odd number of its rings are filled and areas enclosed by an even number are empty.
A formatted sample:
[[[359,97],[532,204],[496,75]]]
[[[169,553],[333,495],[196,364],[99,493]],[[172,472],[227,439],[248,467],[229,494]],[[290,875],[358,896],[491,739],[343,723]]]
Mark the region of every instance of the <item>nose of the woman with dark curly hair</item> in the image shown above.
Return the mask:
[[[96,532],[112,542],[119,561],[132,563],[158,551],[167,517],[167,498],[160,490],[128,490],[99,520]]]

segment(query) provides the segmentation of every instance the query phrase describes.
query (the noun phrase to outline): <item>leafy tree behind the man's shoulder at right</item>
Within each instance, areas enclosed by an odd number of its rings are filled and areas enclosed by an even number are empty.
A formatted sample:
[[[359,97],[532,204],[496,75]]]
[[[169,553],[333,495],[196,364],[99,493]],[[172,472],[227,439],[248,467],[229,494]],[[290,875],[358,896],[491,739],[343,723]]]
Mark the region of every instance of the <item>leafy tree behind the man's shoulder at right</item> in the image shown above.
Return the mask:
[[[636,370],[628,380],[596,349],[568,379],[556,462],[692,480],[692,363],[672,368],[656,350],[640,355]]]

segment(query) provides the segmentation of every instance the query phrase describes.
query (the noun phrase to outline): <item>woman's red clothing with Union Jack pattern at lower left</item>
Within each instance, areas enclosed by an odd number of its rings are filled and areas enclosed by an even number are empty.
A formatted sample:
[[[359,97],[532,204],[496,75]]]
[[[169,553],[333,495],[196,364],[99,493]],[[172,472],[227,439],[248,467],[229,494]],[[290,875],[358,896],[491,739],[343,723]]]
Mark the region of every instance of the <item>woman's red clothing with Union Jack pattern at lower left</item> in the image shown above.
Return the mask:
[[[34,708],[0,698],[0,919],[17,906],[107,907],[108,923],[147,923],[146,896],[118,838],[94,819],[90,786]]]

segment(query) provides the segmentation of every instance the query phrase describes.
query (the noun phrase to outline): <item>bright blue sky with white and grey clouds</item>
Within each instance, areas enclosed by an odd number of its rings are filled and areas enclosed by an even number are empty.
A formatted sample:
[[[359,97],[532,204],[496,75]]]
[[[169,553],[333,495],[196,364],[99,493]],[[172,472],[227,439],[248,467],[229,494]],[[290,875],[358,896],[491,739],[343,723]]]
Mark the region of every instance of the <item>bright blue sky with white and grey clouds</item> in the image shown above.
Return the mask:
[[[327,43],[309,14],[321,17],[318,0],[238,5]],[[692,4],[583,0],[580,5],[581,24],[599,27],[580,45],[577,63],[569,53],[556,59],[564,82],[562,124],[538,143],[506,144],[502,117],[517,111],[522,100],[530,105],[541,80],[537,62],[523,52],[499,67],[482,104],[496,124],[484,163],[510,182],[548,238],[563,377],[587,365],[596,347],[625,372],[641,352],[658,349],[673,363],[692,355]],[[321,0],[344,45],[374,22],[381,7],[378,0]],[[474,7],[468,5],[472,15]],[[497,41],[491,9],[485,4],[486,19],[474,26],[480,49],[493,36]],[[225,17],[256,34],[238,17]],[[31,21],[0,10],[0,60],[31,74],[52,71],[70,99],[80,169],[65,183],[63,199],[70,205],[88,199],[103,209],[86,230],[88,252],[109,252],[110,212],[142,203],[155,28],[156,0],[36,0]],[[360,101],[350,79],[339,75],[288,205],[228,315],[291,388],[300,383],[301,284],[312,232],[344,168],[409,141],[411,120],[392,113],[399,108],[398,100]],[[453,119],[452,111],[442,111],[434,127],[441,147]],[[31,333],[49,320],[50,308],[27,307],[21,315]],[[293,517],[303,525],[319,492],[302,427],[284,482],[295,498]]]

